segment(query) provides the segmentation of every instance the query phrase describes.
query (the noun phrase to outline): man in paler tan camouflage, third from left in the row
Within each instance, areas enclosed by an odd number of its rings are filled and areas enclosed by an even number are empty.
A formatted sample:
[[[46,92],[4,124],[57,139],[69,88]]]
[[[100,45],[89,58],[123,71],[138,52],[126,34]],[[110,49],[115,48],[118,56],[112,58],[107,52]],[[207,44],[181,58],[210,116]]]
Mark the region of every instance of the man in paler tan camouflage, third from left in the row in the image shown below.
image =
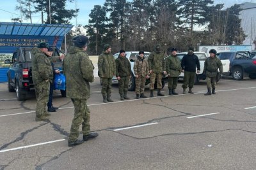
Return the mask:
[[[134,62],[133,66],[136,84],[136,99],[147,98],[144,95],[145,82],[146,78],[148,79],[149,70],[148,70],[148,61],[144,57],[144,52],[140,51],[139,56]]]

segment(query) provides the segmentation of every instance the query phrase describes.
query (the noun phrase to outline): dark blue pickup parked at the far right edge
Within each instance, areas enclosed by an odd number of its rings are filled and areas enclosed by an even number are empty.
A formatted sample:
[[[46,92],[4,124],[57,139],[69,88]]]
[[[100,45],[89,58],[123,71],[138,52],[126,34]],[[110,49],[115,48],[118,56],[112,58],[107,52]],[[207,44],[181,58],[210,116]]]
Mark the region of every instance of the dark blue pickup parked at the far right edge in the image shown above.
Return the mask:
[[[256,56],[248,51],[217,53],[220,60],[230,60],[229,75],[234,80],[242,80],[248,76],[256,78]]]

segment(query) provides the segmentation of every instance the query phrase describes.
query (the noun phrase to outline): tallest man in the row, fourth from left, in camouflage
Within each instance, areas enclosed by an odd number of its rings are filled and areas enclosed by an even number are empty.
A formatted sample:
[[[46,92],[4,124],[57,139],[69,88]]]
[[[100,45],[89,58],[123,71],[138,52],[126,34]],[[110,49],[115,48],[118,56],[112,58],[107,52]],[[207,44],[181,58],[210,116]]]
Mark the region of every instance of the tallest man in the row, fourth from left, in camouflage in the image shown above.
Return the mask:
[[[148,69],[150,73],[150,97],[154,97],[153,90],[157,79],[157,96],[164,96],[161,93],[163,74],[166,74],[166,62],[164,52],[161,52],[161,45],[157,44],[154,52],[148,56]]]

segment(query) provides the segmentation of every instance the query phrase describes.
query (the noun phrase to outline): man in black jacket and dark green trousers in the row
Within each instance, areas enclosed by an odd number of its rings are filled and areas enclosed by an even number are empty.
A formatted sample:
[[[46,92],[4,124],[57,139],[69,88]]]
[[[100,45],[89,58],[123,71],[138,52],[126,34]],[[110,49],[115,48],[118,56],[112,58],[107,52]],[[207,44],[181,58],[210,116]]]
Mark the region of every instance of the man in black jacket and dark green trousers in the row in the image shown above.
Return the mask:
[[[188,54],[181,60],[182,72],[184,72],[184,83],[182,85],[183,94],[186,94],[186,89],[189,87],[188,93],[194,94],[192,88],[195,82],[196,68],[197,73],[200,73],[200,62],[198,57],[194,54],[194,49],[189,48]]]

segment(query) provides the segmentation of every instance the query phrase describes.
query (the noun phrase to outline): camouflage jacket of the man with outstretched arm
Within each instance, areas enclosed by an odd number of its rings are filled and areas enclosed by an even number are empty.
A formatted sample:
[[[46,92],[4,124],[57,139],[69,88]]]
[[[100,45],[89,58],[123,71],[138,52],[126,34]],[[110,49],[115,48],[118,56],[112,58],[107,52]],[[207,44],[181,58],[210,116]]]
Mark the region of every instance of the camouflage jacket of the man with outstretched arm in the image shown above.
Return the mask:
[[[59,57],[47,57],[44,52],[35,47],[32,50],[34,55],[32,59],[32,79],[36,85],[42,81],[49,80],[52,82],[53,73],[51,62],[59,60]]]

